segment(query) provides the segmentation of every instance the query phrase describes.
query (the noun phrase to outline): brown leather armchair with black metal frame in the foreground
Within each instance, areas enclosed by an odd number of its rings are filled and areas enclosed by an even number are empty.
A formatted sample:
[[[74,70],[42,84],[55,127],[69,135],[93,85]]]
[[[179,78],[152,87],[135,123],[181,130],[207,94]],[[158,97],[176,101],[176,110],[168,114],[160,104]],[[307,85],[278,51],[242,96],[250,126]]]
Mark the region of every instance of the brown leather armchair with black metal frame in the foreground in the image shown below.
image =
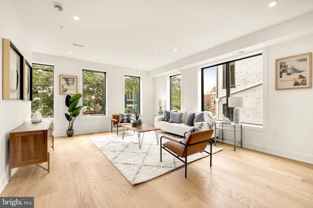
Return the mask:
[[[185,133],[186,134],[186,133]],[[162,149],[168,151],[176,158],[178,158],[181,162],[185,164],[185,178],[187,178],[187,156],[198,153],[198,152],[206,152],[210,154],[210,167],[212,166],[212,139],[211,136],[213,134],[213,130],[205,130],[201,132],[193,132],[185,141],[177,140],[168,136],[161,136],[160,138],[160,161],[162,162]],[[169,139],[162,144],[162,138]],[[206,146],[210,142],[210,152],[205,151]],[[181,158],[185,158],[185,161]]]

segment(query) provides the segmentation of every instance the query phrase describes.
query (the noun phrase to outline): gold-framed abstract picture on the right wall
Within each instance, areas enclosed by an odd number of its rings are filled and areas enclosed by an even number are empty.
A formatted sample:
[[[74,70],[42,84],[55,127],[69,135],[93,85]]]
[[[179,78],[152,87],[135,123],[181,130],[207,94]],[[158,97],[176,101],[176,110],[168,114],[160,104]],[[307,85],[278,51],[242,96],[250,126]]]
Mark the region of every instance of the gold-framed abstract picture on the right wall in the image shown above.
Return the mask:
[[[276,90],[312,88],[312,53],[276,59]]]

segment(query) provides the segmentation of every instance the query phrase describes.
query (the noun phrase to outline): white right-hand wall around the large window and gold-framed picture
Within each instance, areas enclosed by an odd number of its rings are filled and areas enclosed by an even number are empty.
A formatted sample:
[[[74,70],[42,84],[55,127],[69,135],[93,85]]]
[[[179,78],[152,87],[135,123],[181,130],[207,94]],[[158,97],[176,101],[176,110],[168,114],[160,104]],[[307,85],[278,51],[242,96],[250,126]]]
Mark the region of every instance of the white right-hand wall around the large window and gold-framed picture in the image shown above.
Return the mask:
[[[264,127],[243,126],[243,146],[249,149],[313,164],[313,89],[275,90],[275,59],[313,52],[313,35],[302,36],[263,50]],[[228,59],[235,59],[228,57]],[[225,59],[221,59],[221,62]],[[214,63],[218,60],[214,61]],[[213,63],[213,62],[212,62]],[[210,65],[212,63],[205,64]],[[201,76],[203,62],[181,71],[183,110],[201,109]],[[156,77],[156,86],[166,86],[168,75]],[[164,95],[163,88],[157,96]],[[163,91],[163,92],[161,92]],[[168,95],[168,94],[167,94]],[[273,131],[277,130],[277,135]],[[240,151],[240,148],[237,148]]]

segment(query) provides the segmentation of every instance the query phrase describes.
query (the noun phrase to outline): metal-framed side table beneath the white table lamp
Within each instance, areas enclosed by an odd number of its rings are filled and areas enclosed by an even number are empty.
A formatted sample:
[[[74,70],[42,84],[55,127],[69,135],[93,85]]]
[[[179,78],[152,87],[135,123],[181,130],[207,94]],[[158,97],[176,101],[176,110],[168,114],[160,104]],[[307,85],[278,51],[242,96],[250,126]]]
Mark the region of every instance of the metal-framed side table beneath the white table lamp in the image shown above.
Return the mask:
[[[227,144],[232,144],[232,143],[229,143],[229,142],[225,142],[224,141],[224,131],[231,131],[231,132],[234,132],[234,151],[236,151],[236,146],[240,144],[241,147],[243,147],[243,126],[242,124],[234,124],[234,123],[223,123],[223,122],[215,122],[215,125],[214,125],[214,129],[215,129],[215,141],[214,141],[214,146],[216,146],[216,141],[220,141],[220,142],[224,142],[224,143],[227,143]],[[221,138],[218,138],[216,136],[216,130],[222,130],[222,141],[221,141]],[[240,141],[236,141],[236,132],[240,131]],[[237,143],[236,143],[237,142]]]

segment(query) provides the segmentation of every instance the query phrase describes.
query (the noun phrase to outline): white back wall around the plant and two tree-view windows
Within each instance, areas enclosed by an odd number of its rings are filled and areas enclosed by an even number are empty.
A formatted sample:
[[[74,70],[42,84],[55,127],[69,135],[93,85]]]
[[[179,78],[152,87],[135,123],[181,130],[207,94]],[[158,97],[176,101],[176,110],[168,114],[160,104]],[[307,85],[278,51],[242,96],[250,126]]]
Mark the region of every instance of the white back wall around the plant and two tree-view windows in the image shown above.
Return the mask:
[[[107,76],[107,116],[82,117],[80,114],[74,123],[75,134],[89,132],[111,131],[112,114],[124,112],[124,76],[139,76],[141,81],[141,105],[144,124],[153,125],[154,114],[157,110],[154,94],[154,78],[149,78],[148,73],[139,70],[126,69],[117,66],[99,64],[71,58],[49,56],[33,53],[33,63],[54,65],[54,136],[66,135],[68,126],[64,113],[67,113],[65,105],[66,95],[60,95],[60,75],[77,76],[78,93],[82,93],[82,70],[90,69],[106,72]],[[82,105],[82,99],[80,100]]]

